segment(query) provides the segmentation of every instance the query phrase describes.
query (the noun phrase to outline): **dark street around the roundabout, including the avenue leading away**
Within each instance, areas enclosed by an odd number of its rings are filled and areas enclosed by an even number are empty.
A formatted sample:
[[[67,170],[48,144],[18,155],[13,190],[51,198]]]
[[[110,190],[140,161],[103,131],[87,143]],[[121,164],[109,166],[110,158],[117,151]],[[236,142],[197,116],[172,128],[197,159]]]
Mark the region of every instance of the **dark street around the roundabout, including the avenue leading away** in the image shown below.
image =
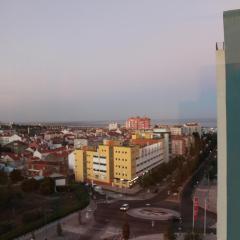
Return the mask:
[[[154,197],[148,200],[120,200],[111,199],[106,202],[103,199],[95,201],[96,207],[90,210],[83,211],[83,224],[79,225],[77,222],[77,214],[72,217],[61,219],[63,227],[63,236],[58,237],[56,234],[56,224],[54,223],[45,226],[45,230],[35,234],[36,239],[107,239],[108,237],[120,236],[122,225],[128,222],[130,226],[131,237],[138,237],[148,234],[164,233],[170,225],[173,226],[175,232],[192,231],[192,193],[196,183],[202,179],[204,169],[213,153],[202,162],[200,167],[195,171],[192,177],[188,179],[182,190],[182,197],[180,203],[177,201],[168,201],[168,187],[162,188]],[[167,185],[167,184],[166,184]],[[94,203],[94,202],[93,202]],[[180,213],[182,222],[177,221],[154,221],[140,219],[129,216],[126,212],[120,211],[122,204],[128,203],[130,209],[132,208],[164,208],[175,210]],[[95,211],[94,211],[95,210]],[[195,223],[195,229],[203,231],[203,216],[204,211],[199,209],[198,220]],[[84,220],[85,219],[85,220]],[[216,223],[216,215],[207,213],[207,231],[213,232],[212,225]],[[46,230],[47,229],[47,230]],[[46,238],[44,238],[46,236]],[[21,239],[29,239],[29,236]]]

